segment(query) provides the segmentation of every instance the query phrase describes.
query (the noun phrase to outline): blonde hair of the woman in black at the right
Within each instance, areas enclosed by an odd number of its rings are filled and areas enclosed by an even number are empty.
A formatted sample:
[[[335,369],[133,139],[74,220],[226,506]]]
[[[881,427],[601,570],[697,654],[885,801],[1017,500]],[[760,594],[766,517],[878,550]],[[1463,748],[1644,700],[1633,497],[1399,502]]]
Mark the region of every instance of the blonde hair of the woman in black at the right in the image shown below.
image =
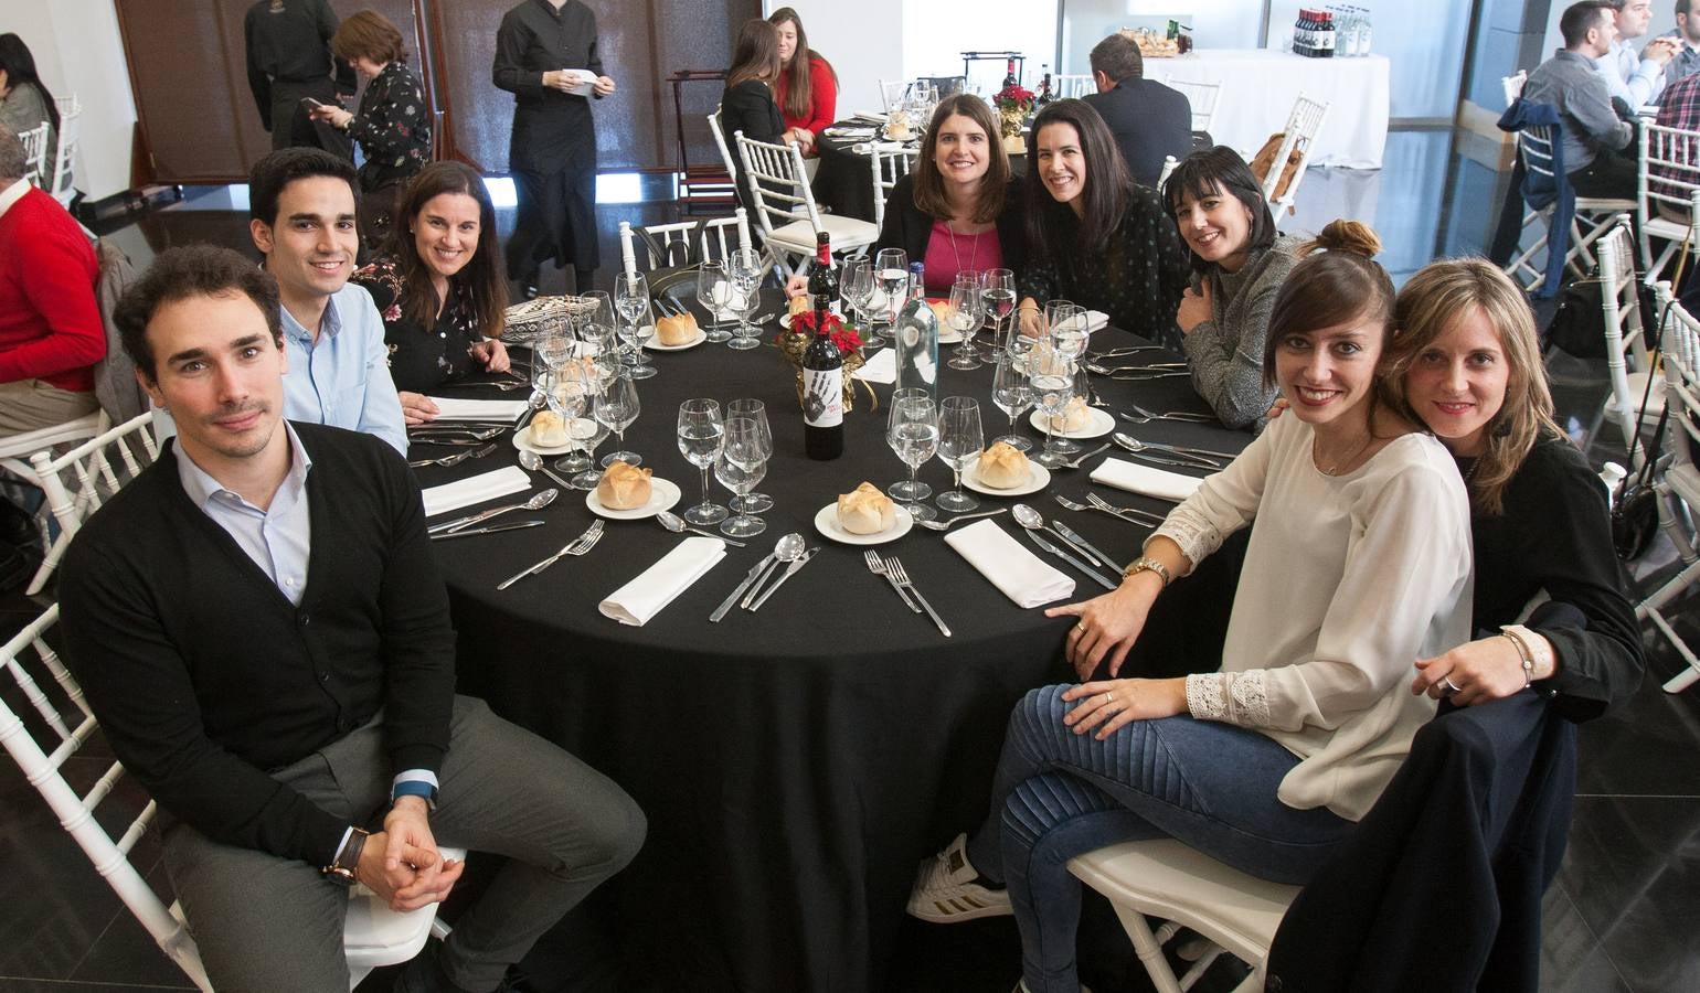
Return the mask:
[[[1552,420],[1535,315],[1523,291],[1484,258],[1442,258],[1420,269],[1394,303],[1387,386],[1401,413],[1423,423],[1406,398],[1404,376],[1425,349],[1470,311],[1481,311],[1493,325],[1506,362],[1504,403],[1484,425],[1488,447],[1470,471],[1470,502],[1481,512],[1501,514],[1504,488],[1540,435],[1562,434]]]

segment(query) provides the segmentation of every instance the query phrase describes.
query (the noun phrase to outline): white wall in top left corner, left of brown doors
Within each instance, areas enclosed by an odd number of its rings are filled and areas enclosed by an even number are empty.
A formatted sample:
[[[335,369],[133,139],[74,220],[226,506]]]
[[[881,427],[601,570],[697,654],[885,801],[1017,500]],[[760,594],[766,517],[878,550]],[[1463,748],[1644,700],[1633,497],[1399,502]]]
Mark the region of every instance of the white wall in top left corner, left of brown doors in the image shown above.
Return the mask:
[[[97,201],[128,190],[136,102],[112,0],[0,0],[0,31],[24,39],[54,97],[83,104],[76,189]]]

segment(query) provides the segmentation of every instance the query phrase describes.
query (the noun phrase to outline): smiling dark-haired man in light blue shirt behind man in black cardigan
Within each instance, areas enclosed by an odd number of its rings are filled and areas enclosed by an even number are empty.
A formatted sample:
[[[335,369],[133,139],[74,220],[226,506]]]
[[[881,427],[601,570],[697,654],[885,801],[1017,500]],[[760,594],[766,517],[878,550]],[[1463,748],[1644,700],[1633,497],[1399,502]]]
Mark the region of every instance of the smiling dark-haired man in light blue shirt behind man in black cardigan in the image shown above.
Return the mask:
[[[354,165],[320,148],[274,151],[248,173],[248,235],[282,299],[284,415],[372,434],[406,454],[384,321],[372,294],[348,282],[360,250],[354,190]],[[155,420],[170,437],[170,415]]]

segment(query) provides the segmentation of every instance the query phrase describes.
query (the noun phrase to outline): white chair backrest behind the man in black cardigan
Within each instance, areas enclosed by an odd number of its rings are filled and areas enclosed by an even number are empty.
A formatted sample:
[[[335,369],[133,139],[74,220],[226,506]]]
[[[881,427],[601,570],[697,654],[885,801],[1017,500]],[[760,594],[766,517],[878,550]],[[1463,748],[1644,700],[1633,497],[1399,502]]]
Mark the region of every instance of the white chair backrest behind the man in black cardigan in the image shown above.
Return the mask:
[[[156,809],[153,801],[143,804],[141,813],[114,840],[95,811],[124,777],[124,767],[112,762],[83,796],[65,780],[61,769],[95,733],[95,718],[83,701],[82,687],[48,641],[48,633],[58,621],[60,607],[53,605],[0,648],[0,668],[5,668],[29,702],[29,709],[19,716],[0,697],[0,741],[24,772],[24,779],[48,801],[60,825],[76,840],[160,949],[196,986],[212,990],[189,930],[165,908],[165,901],[129,862],[131,848],[153,821]]]

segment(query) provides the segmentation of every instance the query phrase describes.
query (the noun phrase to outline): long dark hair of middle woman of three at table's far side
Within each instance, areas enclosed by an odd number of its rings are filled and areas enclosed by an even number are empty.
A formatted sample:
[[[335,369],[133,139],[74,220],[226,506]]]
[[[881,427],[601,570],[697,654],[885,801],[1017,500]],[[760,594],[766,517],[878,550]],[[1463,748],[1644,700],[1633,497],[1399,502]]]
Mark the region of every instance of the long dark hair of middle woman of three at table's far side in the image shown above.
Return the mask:
[[[1039,136],[1052,124],[1068,124],[1080,134],[1080,153],[1086,160],[1086,189],[1080,223],[1068,204],[1051,199],[1051,190],[1039,179]],[[1047,104],[1034,117],[1032,150],[1028,153],[1027,187],[1027,241],[1037,245],[1051,258],[1068,258],[1080,252],[1102,252],[1110,235],[1122,226],[1134,199],[1134,177],[1122,162],[1115,136],[1103,117],[1085,100],[1057,100]]]

